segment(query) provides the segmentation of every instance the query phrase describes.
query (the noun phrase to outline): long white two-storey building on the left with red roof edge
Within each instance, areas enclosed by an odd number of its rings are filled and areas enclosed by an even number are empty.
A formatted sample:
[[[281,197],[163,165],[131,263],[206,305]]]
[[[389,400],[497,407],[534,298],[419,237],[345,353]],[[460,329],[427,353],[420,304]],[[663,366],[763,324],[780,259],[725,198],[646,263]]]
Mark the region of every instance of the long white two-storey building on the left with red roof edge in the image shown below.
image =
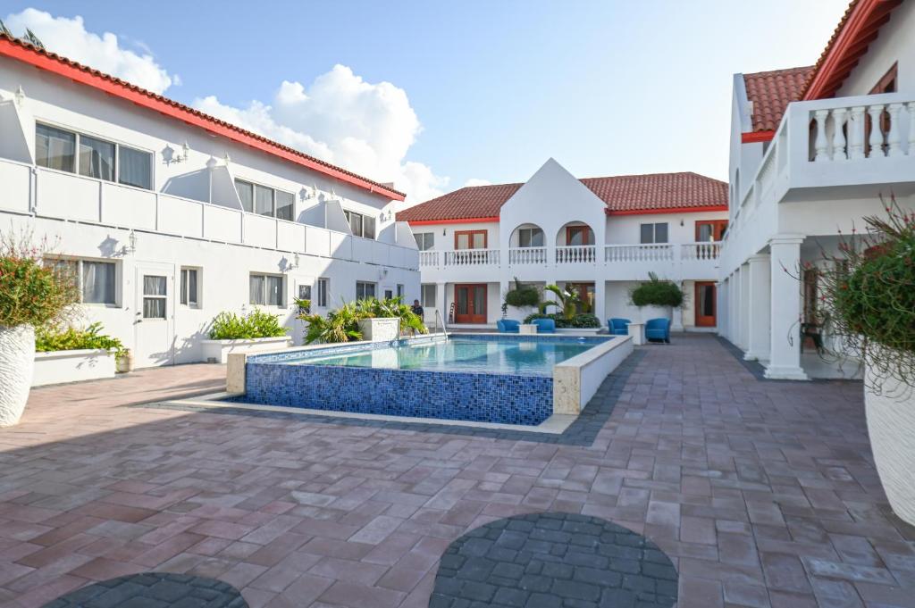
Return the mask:
[[[202,359],[223,310],[260,306],[294,336],[326,312],[418,297],[418,253],[384,209],[404,195],[0,35],[0,230],[56,242],[85,322],[138,367]]]

